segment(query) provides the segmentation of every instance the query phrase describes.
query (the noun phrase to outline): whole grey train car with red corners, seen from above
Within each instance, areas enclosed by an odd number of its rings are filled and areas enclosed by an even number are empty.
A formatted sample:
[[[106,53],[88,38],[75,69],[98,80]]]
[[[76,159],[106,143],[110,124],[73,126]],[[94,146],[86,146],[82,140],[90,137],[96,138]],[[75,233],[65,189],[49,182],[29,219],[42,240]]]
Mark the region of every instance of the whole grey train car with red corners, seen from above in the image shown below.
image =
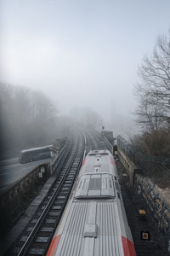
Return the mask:
[[[115,160],[91,150],[82,163],[47,256],[135,256]]]

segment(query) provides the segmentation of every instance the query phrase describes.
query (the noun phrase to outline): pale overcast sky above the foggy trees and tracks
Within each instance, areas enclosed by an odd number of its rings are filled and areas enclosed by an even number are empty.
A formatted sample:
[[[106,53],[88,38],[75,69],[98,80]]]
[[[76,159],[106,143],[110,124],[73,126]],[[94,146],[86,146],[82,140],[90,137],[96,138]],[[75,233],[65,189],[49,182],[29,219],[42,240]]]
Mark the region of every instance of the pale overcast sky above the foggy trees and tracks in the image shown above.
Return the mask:
[[[61,115],[88,106],[126,126],[142,58],[170,28],[169,0],[0,4],[2,82],[42,90]]]

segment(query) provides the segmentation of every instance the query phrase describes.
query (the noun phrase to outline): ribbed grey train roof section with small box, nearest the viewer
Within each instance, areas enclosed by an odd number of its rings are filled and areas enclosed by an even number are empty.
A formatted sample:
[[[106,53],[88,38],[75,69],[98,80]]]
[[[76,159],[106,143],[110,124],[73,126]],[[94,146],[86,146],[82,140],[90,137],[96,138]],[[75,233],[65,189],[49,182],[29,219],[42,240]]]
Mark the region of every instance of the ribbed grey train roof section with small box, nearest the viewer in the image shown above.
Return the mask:
[[[109,201],[73,203],[55,256],[124,255],[119,215]]]

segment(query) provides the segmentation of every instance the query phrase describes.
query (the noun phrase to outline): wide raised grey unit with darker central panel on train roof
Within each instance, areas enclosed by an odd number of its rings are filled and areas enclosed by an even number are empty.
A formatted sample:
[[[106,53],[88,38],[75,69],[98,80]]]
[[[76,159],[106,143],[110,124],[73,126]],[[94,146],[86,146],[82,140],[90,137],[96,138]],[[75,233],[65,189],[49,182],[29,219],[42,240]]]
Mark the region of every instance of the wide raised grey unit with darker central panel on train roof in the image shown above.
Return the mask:
[[[85,174],[81,177],[75,198],[115,197],[113,180],[110,174]]]

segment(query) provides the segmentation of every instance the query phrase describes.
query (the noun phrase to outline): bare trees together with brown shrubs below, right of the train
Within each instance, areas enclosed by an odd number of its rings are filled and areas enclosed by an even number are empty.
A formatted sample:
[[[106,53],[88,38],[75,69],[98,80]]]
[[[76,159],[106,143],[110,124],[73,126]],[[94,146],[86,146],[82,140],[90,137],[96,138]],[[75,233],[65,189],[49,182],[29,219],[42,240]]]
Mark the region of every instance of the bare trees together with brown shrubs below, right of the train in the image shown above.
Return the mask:
[[[170,32],[157,38],[139,67],[136,112],[142,135],[133,143],[145,154],[170,157]]]

